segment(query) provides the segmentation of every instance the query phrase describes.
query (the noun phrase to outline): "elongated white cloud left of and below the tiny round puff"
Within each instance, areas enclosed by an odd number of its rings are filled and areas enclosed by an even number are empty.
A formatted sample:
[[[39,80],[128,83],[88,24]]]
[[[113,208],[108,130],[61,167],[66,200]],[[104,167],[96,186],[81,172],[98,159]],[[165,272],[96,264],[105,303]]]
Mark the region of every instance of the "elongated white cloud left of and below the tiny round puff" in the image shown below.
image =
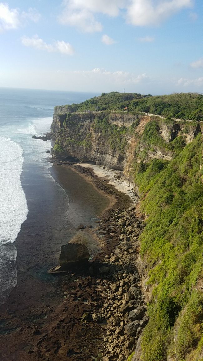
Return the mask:
[[[32,38],[22,36],[21,42],[26,47],[32,47],[38,50],[45,50],[48,52],[59,52],[65,55],[73,55],[74,49],[70,43],[62,41],[56,41],[53,44],[47,44],[43,39],[40,39],[38,35],[34,35]]]

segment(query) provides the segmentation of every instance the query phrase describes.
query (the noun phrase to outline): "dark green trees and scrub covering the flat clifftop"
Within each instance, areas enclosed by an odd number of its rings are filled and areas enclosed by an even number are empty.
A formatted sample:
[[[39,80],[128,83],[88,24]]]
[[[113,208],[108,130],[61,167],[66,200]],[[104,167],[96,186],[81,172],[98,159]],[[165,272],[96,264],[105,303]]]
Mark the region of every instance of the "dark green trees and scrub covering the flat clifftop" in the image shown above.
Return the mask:
[[[139,93],[102,93],[98,97],[80,104],[68,105],[72,112],[85,110],[117,110],[145,112],[169,118],[203,120],[203,95],[198,93],[175,93],[162,96],[141,95]]]

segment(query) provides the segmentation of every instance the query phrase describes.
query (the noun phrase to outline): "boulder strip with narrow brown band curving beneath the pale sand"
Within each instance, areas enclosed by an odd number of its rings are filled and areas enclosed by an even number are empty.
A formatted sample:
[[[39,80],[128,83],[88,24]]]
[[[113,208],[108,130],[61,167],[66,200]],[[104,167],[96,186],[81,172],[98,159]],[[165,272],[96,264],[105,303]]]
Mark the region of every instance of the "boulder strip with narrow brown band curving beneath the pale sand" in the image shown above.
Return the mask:
[[[136,215],[137,205],[129,201],[122,206],[119,201],[122,193],[120,195],[111,186],[109,188],[107,179],[97,178],[91,169],[82,165],[78,167],[69,162],[60,163],[84,174],[100,191],[114,197],[111,209],[103,214],[97,221],[97,228],[93,230],[105,244],[105,249],[94,256],[93,262],[89,262],[85,270],[86,277],[80,278],[78,270],[75,271],[79,279],[67,298],[75,300],[76,306],[80,303],[86,305],[80,315],[85,329],[92,330],[98,326],[100,337],[94,346],[98,353],[91,355],[92,350],[89,350],[88,355],[87,351],[85,360],[93,357],[97,361],[126,361],[135,351],[138,338],[148,322],[137,262],[138,237],[145,225],[143,219]],[[80,232],[84,232],[83,227]],[[65,282],[63,287],[66,288]],[[72,352],[70,360],[84,360],[79,349]]]

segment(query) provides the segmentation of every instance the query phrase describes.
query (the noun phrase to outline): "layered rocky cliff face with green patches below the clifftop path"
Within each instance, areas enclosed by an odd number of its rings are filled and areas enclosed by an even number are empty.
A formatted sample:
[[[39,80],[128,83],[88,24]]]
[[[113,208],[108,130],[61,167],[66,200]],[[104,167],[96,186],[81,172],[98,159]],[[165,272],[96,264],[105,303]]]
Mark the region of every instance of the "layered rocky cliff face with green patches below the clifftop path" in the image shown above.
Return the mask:
[[[167,144],[183,134],[185,144],[191,142],[200,127],[167,123],[136,113],[73,113],[68,106],[56,106],[51,131],[56,139],[54,156],[94,161],[107,168],[124,170],[128,177],[133,158],[138,163],[153,158],[171,160],[173,147]]]

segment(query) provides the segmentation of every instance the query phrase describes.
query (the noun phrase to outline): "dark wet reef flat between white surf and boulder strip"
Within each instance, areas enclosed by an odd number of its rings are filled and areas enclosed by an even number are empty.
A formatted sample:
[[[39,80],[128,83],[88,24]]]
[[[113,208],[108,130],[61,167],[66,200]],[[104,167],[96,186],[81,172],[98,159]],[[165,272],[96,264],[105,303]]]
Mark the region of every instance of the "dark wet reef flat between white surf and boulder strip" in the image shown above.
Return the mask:
[[[14,243],[17,286],[0,309],[1,361],[85,361],[92,360],[91,356],[97,356],[100,351],[101,327],[98,324],[89,327],[82,318],[91,307],[85,297],[92,295],[91,302],[98,302],[88,271],[76,269],[73,273],[53,276],[47,270],[58,264],[61,244],[70,240],[80,223],[95,226],[95,218],[108,208],[116,195],[116,207],[129,200],[112,186],[103,184],[102,179],[96,181],[95,176],[92,185],[91,174],[87,174],[86,181],[87,170],[81,173],[82,176],[60,165],[52,168],[53,177],[66,190],[69,200],[66,193],[59,192],[56,183],[43,178],[38,169],[22,173],[29,212]],[[109,252],[111,247],[114,245],[109,245]],[[103,249],[97,261],[107,251]],[[81,293],[82,298],[76,303]],[[79,351],[73,352],[77,347]]]

